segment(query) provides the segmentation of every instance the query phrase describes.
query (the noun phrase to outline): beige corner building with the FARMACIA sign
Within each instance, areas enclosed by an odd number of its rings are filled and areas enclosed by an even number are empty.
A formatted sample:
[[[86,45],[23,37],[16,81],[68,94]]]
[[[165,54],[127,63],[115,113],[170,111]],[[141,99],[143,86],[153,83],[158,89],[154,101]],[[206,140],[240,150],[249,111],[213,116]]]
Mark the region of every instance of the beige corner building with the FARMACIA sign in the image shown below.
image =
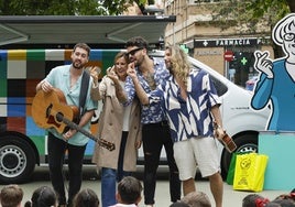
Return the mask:
[[[254,51],[269,51],[270,36],[242,34],[239,28],[222,30],[212,20],[210,8],[222,0],[165,0],[165,14],[176,15],[165,31],[165,44],[183,44],[189,55],[215,68],[241,87],[256,76]]]

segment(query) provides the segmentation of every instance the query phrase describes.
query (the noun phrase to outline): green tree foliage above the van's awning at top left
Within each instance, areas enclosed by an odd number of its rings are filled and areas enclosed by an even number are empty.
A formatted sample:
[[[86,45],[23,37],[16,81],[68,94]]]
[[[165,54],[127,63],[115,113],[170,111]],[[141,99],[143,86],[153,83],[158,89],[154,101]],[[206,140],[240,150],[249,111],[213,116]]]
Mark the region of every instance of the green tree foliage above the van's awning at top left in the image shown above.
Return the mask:
[[[148,0],[0,0],[0,15],[118,15],[128,3],[141,10]]]

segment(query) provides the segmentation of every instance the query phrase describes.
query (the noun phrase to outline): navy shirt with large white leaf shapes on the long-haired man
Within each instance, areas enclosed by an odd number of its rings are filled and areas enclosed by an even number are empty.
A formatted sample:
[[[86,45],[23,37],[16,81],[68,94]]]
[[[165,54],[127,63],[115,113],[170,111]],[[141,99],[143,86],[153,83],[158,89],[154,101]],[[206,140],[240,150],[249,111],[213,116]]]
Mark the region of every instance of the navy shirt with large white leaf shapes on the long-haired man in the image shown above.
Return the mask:
[[[181,88],[172,76],[148,96],[151,105],[163,105],[174,142],[212,135],[210,109],[220,105],[220,100],[209,75],[204,70],[194,68],[190,72],[186,100],[182,98]]]

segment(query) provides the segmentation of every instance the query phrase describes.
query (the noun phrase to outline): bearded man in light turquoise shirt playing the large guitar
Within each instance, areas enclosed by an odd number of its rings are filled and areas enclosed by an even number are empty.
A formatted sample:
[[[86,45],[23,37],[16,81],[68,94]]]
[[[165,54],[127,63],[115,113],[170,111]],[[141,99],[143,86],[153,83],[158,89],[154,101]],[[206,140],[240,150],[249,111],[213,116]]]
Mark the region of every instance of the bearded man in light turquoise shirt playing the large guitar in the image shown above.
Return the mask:
[[[90,47],[85,43],[77,43],[72,52],[70,65],[63,65],[53,68],[50,74],[36,86],[36,90],[51,92],[54,88],[63,91],[67,105],[80,108],[80,92],[83,76],[88,75],[84,70],[89,59]],[[89,78],[88,90],[85,99],[84,108],[80,111],[78,127],[84,130],[90,130],[90,121],[97,108],[97,101],[90,98],[90,87],[92,78]],[[45,110],[45,109],[44,109]],[[64,133],[58,133],[55,129],[48,129],[47,151],[50,175],[54,190],[58,197],[59,206],[72,206],[73,198],[80,190],[81,186],[81,167],[84,152],[88,142],[88,138],[79,133],[75,129],[68,129]],[[63,164],[65,151],[68,155],[68,200],[66,200],[65,185],[63,179]]]

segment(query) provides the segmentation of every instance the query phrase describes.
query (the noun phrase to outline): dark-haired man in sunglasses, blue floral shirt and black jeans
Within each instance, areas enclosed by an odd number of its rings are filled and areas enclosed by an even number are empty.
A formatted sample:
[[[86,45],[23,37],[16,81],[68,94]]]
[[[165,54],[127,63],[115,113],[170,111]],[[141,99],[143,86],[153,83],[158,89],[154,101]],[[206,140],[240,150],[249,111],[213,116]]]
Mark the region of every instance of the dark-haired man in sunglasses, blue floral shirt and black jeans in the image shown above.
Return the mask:
[[[129,61],[131,62],[129,67],[136,69],[140,85],[145,92],[151,92],[157,85],[161,85],[170,77],[164,62],[150,58],[148,55],[148,42],[143,37],[132,37],[127,42],[125,46],[130,58]],[[121,88],[117,88],[118,99],[124,105],[130,105],[136,95],[133,81],[130,77],[127,77],[124,90],[125,92]],[[144,204],[146,206],[153,206],[155,203],[156,170],[163,146],[166,151],[170,167],[171,201],[175,203],[181,198],[181,182],[178,168],[173,156],[173,142],[170,127],[161,103],[156,102],[142,106],[141,122],[143,124]]]

